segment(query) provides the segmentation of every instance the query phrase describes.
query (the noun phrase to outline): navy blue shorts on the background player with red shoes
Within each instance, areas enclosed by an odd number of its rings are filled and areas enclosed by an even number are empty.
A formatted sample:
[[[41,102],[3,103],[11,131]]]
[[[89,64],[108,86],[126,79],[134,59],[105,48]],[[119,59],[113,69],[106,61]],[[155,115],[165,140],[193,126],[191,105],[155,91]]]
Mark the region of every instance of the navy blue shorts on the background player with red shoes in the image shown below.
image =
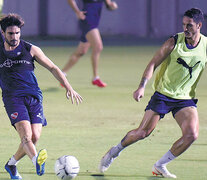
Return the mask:
[[[102,2],[84,3],[82,11],[86,11],[86,18],[84,20],[80,20],[81,42],[87,42],[86,34],[90,30],[98,27],[101,17],[102,6]]]

